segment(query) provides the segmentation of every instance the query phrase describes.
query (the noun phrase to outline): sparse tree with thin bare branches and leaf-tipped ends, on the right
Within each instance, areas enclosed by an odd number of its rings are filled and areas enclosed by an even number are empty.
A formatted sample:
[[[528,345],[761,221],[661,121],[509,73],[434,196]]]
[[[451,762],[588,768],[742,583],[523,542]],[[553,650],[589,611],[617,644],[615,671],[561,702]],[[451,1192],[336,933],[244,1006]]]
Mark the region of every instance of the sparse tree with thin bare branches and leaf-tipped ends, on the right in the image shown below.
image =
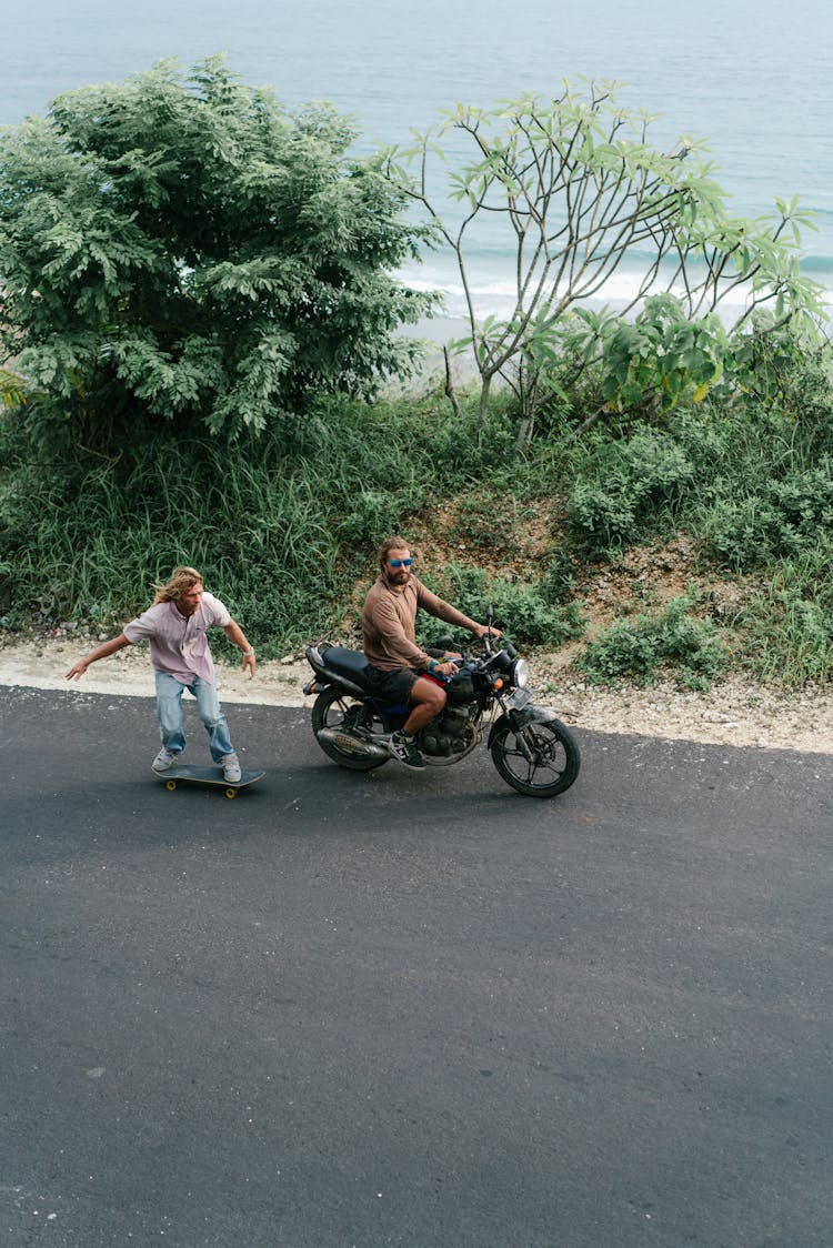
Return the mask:
[[[614,90],[566,84],[552,100],[525,95],[491,111],[458,105],[411,147],[380,155],[391,185],[427,210],[456,257],[470,333],[455,346],[473,348],[482,413],[500,374],[516,389],[531,428],[541,376],[558,358],[562,318],[603,292],[626,258],[641,267],[622,316],[647,295],[673,290],[682,317],[693,321],[738,287],[746,305],[734,328],[762,306],[773,308],[774,323],[822,311],[819,288],[798,268],[799,226],[808,215],[777,201],[772,220],[731,218],[702,145],[681,139],[672,152],[657,151],[648,144],[653,119],[622,109]],[[461,156],[443,182],[436,165],[447,161],[447,149],[461,147],[471,157]],[[483,220],[492,231],[496,222],[505,227],[515,255],[515,307],[506,319],[481,316],[470,277]],[[711,323],[701,337],[713,338]],[[637,353],[644,344],[643,333]],[[616,353],[628,354],[624,342]],[[684,353],[693,359],[688,347]],[[631,364],[624,372],[633,383]],[[663,386],[677,379],[669,376]]]

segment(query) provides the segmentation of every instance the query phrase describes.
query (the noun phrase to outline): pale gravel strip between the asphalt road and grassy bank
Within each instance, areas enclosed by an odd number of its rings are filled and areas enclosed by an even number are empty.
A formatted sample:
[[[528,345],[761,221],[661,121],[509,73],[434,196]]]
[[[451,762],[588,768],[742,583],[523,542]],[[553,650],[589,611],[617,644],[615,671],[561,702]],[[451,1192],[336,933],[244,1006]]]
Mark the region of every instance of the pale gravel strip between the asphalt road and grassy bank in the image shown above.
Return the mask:
[[[0,686],[65,689],[70,696],[80,689],[152,698],[154,680],[144,646],[121,650],[96,663],[77,684],[67,683],[67,668],[89,648],[87,639],[71,636],[0,641]],[[667,683],[647,689],[624,684],[599,689],[564,669],[563,656],[557,654],[533,654],[531,663],[537,700],[555,706],[566,723],[578,728],[833,755],[829,689],[784,693],[737,678],[707,693],[683,693]],[[217,664],[225,703],[311,705],[302,693],[308,675],[310,668],[297,654],[261,663],[254,680],[236,666]]]

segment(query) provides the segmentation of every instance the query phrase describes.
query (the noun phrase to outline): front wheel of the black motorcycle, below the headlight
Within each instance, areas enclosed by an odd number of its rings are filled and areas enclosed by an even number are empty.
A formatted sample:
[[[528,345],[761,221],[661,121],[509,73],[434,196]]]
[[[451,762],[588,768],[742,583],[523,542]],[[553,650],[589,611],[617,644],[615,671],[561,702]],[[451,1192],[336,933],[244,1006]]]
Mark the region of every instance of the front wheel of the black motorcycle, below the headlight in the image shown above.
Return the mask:
[[[517,792],[527,797],[556,797],[569,789],[578,775],[578,743],[558,719],[527,724],[521,729],[528,759],[518,745],[518,735],[506,723],[492,740],[492,763]]]

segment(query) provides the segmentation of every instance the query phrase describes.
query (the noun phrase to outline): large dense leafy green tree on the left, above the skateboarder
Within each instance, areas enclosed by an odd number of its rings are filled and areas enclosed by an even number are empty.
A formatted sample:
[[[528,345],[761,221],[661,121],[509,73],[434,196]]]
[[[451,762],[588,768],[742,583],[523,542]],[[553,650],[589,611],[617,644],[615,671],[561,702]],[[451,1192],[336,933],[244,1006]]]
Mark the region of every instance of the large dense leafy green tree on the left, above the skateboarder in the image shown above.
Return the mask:
[[[311,392],[407,376],[423,231],[328,105],[287,115],[221,57],[70,91],[0,136],[0,342],[37,419],[264,429]],[[0,353],[0,359],[2,353]],[[32,417],[34,418],[34,417]]]

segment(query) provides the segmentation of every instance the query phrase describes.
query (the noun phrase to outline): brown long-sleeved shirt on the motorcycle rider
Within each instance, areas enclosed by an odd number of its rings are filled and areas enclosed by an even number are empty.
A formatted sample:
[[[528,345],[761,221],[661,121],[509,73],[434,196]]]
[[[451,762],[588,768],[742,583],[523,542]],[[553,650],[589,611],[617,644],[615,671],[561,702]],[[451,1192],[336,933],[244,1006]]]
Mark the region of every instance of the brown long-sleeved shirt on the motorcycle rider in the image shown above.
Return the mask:
[[[477,630],[473,620],[432,594],[416,577],[412,575],[398,593],[380,577],[365,599],[362,612],[363,648],[367,661],[373,668],[382,671],[393,671],[396,668],[425,671],[428,666],[428,655],[416,644],[418,607],[446,624],[467,628],[470,633]]]

